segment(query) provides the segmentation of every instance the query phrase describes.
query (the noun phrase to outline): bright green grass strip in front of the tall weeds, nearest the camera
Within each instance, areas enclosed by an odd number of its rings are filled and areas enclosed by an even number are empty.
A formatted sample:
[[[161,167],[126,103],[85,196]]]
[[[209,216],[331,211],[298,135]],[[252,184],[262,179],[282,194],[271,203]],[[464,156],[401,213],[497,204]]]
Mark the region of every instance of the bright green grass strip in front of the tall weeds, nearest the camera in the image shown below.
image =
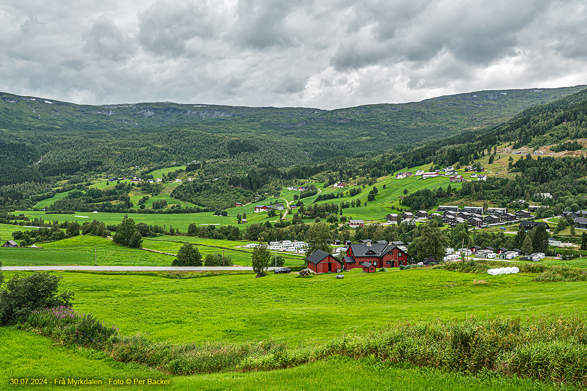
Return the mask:
[[[56,346],[30,332],[0,328],[0,390],[535,390],[554,387],[527,379],[479,379],[429,368],[397,368],[362,359],[334,357],[270,372],[168,376],[139,365],[112,361],[103,353]],[[10,379],[100,379],[98,386],[10,385]],[[164,379],[168,386],[109,385],[109,379]]]

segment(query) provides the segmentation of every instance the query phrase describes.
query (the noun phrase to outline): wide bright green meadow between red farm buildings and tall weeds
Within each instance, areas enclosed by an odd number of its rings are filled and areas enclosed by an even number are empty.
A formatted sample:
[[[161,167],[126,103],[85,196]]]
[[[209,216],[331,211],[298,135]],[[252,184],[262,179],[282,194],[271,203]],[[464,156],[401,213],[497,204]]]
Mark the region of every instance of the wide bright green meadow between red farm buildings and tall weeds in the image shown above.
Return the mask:
[[[6,277],[12,274],[5,272]],[[585,283],[536,283],[522,274],[353,270],[343,280],[332,274],[187,280],[56,274],[63,276],[63,289],[75,292],[76,310],[116,324],[123,335],[144,333],[174,342],[273,338],[296,345],[402,319],[587,314]],[[475,284],[478,280],[487,283]]]

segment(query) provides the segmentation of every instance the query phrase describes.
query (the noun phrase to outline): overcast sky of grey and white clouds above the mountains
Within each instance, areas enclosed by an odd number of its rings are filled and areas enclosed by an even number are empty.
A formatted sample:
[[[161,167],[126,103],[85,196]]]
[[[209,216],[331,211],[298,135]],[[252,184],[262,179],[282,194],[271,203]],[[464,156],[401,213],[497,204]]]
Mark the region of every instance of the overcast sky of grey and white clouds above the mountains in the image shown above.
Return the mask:
[[[585,1],[8,0],[0,90],[338,108],[587,84]]]

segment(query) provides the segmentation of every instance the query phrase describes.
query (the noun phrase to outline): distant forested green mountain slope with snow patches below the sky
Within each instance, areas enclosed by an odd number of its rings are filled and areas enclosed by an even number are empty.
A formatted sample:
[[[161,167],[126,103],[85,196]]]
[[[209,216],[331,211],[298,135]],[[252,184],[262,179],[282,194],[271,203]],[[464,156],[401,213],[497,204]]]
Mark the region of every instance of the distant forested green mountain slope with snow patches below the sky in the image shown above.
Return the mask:
[[[176,103],[88,106],[0,93],[0,132],[31,144],[41,166],[92,161],[142,166],[208,158],[288,166],[400,150],[476,131],[583,88],[480,91],[330,111]]]

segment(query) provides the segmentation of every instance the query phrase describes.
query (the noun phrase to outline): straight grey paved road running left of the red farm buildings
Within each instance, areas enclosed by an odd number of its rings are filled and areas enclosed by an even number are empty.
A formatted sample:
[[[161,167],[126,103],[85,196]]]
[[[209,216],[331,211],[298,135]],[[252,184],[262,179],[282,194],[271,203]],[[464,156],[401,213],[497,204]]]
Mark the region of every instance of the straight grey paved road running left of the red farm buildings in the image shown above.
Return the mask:
[[[277,267],[278,268],[278,267]],[[276,267],[269,267],[274,270]],[[172,267],[172,266],[2,266],[3,271],[49,271],[49,270],[84,270],[84,271],[252,271],[250,266],[218,267]]]

